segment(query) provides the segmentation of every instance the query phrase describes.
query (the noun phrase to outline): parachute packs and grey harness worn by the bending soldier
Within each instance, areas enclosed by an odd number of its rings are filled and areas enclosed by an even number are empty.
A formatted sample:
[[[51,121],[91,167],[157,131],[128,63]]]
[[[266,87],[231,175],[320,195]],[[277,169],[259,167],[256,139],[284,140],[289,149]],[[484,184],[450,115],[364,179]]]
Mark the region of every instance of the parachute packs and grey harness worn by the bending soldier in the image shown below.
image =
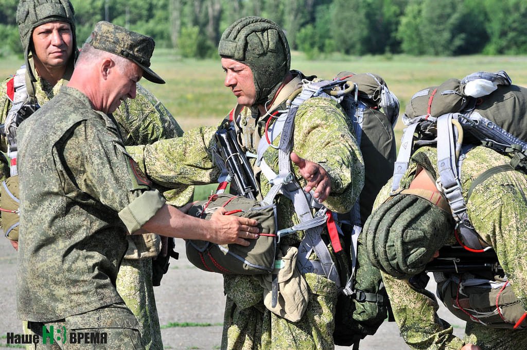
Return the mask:
[[[504,71],[476,72],[417,92],[403,115],[407,125],[395,163],[392,191],[399,189],[412,154],[423,146],[437,149],[436,186],[451,208],[457,244],[445,246],[427,265],[438,295],[451,312],[497,328],[525,327],[516,299],[492,247],[471,225],[460,181],[463,160],[477,145],[508,155],[509,164],[492,167],[467,191],[502,171],[527,173],[527,89],[512,85]],[[477,277],[474,277],[474,274]],[[459,299],[464,299],[460,303]]]

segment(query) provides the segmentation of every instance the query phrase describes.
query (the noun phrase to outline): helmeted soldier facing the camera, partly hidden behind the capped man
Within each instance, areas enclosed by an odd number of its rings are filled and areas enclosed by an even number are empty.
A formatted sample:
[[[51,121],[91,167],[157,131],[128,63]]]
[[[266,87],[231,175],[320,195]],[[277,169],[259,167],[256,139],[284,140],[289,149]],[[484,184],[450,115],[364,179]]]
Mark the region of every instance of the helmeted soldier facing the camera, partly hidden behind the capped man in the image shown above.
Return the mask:
[[[44,105],[67,84],[79,54],[75,37],[74,9],[69,0],[21,0],[17,23],[25,52],[25,82],[28,93],[39,105]],[[36,42],[35,42],[35,40]],[[47,50],[47,51],[46,51]],[[13,78],[0,84],[0,121],[13,105]],[[147,89],[137,85],[134,100],[123,101],[113,113],[125,145],[148,144],[157,140],[180,137],[179,124],[170,112]],[[0,138],[0,149],[7,152],[7,140]],[[9,162],[2,157],[0,177],[9,177]],[[193,188],[180,186],[164,195],[174,205],[184,205]],[[17,235],[7,238],[15,246]],[[157,235],[129,237],[129,250],[119,270],[119,293],[140,322],[147,348],[161,349],[161,330],[152,286],[153,259],[159,252]]]

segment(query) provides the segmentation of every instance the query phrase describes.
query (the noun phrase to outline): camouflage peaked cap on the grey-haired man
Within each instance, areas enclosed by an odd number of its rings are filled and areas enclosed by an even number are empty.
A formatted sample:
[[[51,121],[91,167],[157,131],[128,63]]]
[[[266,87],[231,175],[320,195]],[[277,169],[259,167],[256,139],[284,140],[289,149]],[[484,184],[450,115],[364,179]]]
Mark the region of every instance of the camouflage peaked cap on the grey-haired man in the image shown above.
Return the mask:
[[[158,84],[165,81],[150,69],[150,57],[155,42],[147,35],[132,32],[110,22],[101,21],[95,25],[87,44],[133,61],[143,70],[145,79]]]

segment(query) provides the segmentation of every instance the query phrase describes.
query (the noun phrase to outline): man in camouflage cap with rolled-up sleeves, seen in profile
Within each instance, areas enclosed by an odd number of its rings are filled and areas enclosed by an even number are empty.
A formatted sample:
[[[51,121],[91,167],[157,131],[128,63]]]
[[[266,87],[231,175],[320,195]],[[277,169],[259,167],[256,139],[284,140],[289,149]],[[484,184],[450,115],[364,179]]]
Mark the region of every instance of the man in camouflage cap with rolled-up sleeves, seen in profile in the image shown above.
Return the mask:
[[[164,83],[149,68],[153,48],[148,36],[97,23],[70,82],[18,129],[17,310],[34,334],[46,327],[64,343],[62,332],[51,329],[64,326],[65,333],[108,335],[105,345],[92,348],[144,348],[138,322],[115,288],[126,232],[218,244],[257,238],[256,220],[220,210],[209,222],[166,205],[126,154],[107,114],[135,97],[141,76]]]

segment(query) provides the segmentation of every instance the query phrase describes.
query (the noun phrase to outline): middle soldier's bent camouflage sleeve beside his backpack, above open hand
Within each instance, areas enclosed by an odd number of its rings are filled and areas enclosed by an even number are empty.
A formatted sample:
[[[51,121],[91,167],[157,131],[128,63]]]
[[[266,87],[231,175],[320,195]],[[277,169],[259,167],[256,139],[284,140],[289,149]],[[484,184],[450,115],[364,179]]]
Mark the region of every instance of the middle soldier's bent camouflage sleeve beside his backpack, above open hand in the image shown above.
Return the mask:
[[[364,162],[347,118],[337,103],[312,98],[302,103],[295,118],[293,151],[320,164],[331,177],[326,206],[349,211],[364,186]]]

